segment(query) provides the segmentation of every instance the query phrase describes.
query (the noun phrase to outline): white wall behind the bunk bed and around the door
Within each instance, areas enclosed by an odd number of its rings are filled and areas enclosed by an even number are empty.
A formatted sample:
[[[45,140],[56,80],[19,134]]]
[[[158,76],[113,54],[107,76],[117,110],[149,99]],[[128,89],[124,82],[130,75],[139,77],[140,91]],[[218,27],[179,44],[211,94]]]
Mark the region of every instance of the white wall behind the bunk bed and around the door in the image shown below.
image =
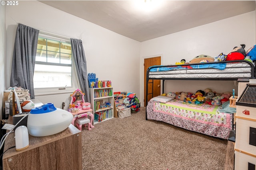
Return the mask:
[[[181,59],[189,62],[194,57],[205,54],[212,57],[220,53],[228,54],[235,46],[245,44],[245,50],[255,45],[255,11],[216,21],[192,29],[187,29],[141,43],[141,84],[143,82],[143,59],[162,54],[162,64],[175,64]],[[141,86],[142,87],[142,86]],[[233,81],[191,81],[168,80],[165,92],[204,90],[212,88],[216,92],[232,92],[236,89]],[[141,96],[143,98],[143,88]]]

